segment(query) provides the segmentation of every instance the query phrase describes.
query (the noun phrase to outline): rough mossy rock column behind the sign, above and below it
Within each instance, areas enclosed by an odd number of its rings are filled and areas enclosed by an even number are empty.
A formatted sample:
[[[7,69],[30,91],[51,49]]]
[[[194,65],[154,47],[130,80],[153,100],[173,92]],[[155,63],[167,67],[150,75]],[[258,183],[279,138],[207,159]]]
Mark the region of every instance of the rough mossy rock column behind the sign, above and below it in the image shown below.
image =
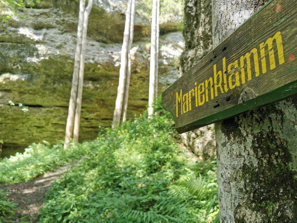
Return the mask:
[[[186,0],[184,7],[185,50],[178,62],[180,76],[212,48],[211,0]],[[203,158],[215,154],[214,125],[181,134],[184,145]]]

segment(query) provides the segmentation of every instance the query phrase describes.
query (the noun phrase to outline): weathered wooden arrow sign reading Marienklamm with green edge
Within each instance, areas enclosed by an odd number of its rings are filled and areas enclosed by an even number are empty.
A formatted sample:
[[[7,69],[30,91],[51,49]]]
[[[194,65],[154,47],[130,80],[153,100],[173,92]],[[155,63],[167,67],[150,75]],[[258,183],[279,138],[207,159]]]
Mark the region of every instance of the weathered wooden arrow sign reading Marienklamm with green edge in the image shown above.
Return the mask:
[[[297,94],[297,1],[271,0],[162,93],[184,133]]]

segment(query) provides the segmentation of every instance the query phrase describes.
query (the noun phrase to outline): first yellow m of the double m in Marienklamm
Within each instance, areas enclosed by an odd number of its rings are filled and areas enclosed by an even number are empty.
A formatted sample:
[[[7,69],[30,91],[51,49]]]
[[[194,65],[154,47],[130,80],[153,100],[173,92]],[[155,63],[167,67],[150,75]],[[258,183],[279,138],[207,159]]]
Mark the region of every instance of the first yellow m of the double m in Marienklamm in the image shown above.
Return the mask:
[[[247,79],[250,81],[252,80],[252,72],[251,72],[251,54],[254,55],[254,67],[256,77],[260,75],[259,71],[259,62],[258,62],[258,52],[256,48],[253,48],[250,53],[245,54],[244,56],[240,57],[240,67],[241,67],[241,83],[245,83],[245,73],[244,73],[244,59],[247,60]],[[265,64],[266,65],[266,64]]]

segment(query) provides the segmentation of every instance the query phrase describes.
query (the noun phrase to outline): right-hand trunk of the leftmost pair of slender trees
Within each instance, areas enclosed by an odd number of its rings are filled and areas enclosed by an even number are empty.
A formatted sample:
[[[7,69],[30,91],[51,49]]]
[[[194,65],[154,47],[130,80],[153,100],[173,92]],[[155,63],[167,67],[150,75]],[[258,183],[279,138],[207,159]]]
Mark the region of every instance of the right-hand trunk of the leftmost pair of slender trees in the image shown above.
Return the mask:
[[[76,109],[75,109],[75,118],[74,118],[74,129],[73,136],[75,142],[78,142],[79,138],[79,125],[80,125],[80,113],[81,113],[81,101],[83,97],[83,74],[85,70],[85,56],[86,56],[86,45],[87,45],[87,29],[89,22],[89,15],[93,6],[93,0],[89,0],[88,6],[84,12],[83,18],[83,40],[80,52],[80,67],[79,67],[79,76],[78,76],[78,94],[76,99]]]

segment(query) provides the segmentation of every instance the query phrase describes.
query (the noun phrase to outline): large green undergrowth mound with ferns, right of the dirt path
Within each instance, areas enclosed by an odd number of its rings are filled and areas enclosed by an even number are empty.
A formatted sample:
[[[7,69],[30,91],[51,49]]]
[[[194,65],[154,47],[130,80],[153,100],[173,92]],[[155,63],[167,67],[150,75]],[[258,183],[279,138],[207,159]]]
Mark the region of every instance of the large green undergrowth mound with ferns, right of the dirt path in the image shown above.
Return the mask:
[[[38,218],[56,222],[218,222],[216,161],[178,147],[171,114],[147,113],[84,142]]]

